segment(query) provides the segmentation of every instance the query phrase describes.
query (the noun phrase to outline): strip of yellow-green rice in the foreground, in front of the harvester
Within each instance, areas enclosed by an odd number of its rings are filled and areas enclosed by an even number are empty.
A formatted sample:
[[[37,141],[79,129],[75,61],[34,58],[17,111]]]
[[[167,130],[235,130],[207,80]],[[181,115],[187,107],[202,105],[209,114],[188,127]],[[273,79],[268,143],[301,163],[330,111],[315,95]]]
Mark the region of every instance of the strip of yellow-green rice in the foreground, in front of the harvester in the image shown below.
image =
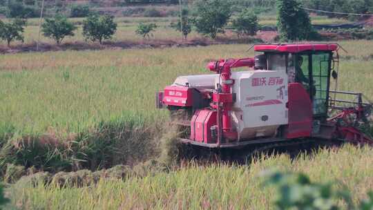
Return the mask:
[[[189,164],[170,173],[101,180],[82,188],[32,187],[21,182],[10,189],[10,197],[21,209],[274,209],[276,191],[263,187],[260,174],[278,169],[347,187],[356,203],[373,188],[372,157],[372,148],[344,146],[296,160],[288,155],[262,156],[249,166]]]

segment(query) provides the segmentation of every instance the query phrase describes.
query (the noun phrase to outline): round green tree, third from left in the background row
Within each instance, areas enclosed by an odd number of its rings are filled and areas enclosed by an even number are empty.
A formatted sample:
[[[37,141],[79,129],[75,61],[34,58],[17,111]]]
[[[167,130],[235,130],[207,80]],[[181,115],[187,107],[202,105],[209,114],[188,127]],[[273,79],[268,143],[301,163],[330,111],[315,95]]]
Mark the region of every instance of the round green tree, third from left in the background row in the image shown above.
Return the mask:
[[[99,41],[102,44],[104,39],[111,39],[117,31],[117,23],[110,15],[90,15],[83,21],[83,36],[86,40]]]

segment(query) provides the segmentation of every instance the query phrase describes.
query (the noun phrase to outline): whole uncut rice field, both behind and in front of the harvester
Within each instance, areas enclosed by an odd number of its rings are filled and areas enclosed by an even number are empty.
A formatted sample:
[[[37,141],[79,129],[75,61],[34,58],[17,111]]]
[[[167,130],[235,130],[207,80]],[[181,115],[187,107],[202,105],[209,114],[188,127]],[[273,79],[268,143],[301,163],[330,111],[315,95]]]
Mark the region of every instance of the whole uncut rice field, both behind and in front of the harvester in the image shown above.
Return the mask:
[[[339,89],[373,99],[373,41],[341,41]],[[251,57],[248,45],[59,51],[0,57],[0,166],[38,166],[56,172],[101,169],[154,157],[166,111],[155,92],[175,77],[209,73],[207,61]],[[46,137],[47,136],[47,137]],[[35,146],[48,144],[46,149]],[[155,142],[154,142],[155,141]],[[36,143],[35,143],[36,142]],[[46,143],[47,142],[47,143]],[[57,145],[57,146],[56,146]],[[302,171],[337,180],[354,201],[373,187],[373,151],[345,146],[291,159],[263,157],[250,166],[189,163],[144,178],[101,180],[60,188],[14,184],[7,209],[271,209],[275,192],[260,171]],[[146,157],[144,157],[146,156]]]

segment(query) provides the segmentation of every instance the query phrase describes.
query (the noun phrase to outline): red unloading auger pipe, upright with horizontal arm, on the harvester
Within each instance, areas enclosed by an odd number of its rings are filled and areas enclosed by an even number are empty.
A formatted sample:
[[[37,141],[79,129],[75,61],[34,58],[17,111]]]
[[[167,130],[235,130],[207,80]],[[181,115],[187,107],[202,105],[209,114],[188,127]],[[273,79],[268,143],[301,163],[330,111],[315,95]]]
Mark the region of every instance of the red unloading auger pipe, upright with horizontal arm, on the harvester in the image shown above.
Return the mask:
[[[207,68],[220,74],[217,92],[213,93],[213,102],[211,107],[216,108],[218,113],[218,144],[222,143],[222,137],[228,140],[237,140],[238,133],[233,131],[231,126],[231,108],[233,106],[233,94],[231,87],[234,79],[231,79],[231,69],[240,67],[254,67],[254,58],[245,59],[222,59],[220,61],[211,61]]]

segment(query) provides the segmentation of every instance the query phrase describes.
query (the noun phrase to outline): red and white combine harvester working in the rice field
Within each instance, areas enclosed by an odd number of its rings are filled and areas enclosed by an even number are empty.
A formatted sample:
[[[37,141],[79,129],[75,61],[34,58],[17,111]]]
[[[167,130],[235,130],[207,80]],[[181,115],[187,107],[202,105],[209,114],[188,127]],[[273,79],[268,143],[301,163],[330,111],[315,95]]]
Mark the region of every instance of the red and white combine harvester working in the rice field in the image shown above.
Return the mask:
[[[157,107],[168,108],[187,131],[182,142],[209,148],[307,139],[373,143],[359,129],[372,104],[361,93],[336,90],[338,48],[259,44],[254,58],[211,61],[213,74],[178,77],[157,93]],[[232,71],[242,67],[249,69]]]

